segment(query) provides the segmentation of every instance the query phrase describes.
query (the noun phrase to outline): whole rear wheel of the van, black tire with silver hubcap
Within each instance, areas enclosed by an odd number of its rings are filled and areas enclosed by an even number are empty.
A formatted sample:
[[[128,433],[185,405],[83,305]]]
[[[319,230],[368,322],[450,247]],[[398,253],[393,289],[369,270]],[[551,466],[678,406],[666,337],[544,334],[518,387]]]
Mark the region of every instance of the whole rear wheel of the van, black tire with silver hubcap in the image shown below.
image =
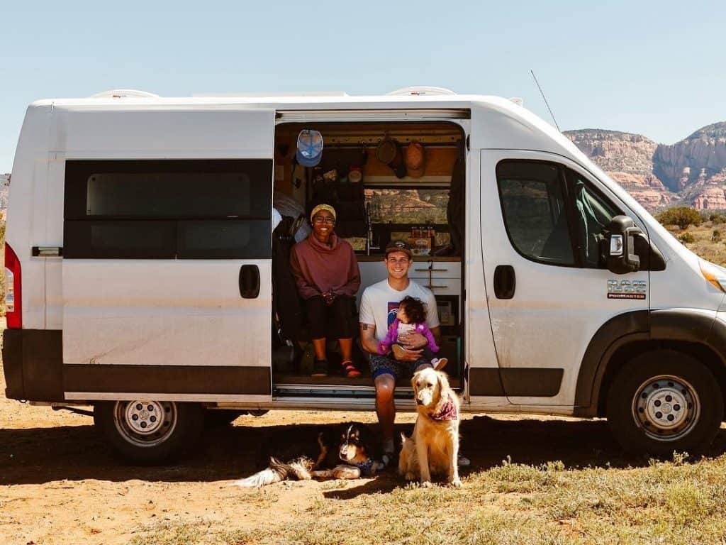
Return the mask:
[[[136,464],[179,456],[194,445],[204,427],[198,403],[110,401],[97,403],[94,424],[114,451]]]

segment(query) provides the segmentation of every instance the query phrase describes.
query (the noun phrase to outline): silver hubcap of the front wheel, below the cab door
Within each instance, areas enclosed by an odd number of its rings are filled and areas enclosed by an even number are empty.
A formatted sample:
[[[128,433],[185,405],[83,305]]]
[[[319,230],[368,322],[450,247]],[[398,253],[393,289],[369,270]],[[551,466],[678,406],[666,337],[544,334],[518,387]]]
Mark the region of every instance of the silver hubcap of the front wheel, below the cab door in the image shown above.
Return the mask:
[[[688,382],[677,376],[661,375],[640,385],[632,411],[645,435],[658,441],[674,441],[693,429],[701,403]]]

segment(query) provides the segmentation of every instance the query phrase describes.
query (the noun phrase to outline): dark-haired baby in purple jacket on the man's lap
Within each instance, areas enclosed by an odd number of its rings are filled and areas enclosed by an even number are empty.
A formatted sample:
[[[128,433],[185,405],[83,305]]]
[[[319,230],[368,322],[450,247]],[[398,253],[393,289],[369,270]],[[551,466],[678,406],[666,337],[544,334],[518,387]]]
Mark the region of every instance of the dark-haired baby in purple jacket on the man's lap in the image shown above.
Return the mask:
[[[430,360],[434,369],[438,371],[449,363],[448,359],[436,358],[434,355],[439,352],[439,345],[436,344],[436,339],[426,325],[426,309],[423,302],[415,297],[406,296],[399,303],[396,320],[393,320],[391,327],[388,328],[386,339],[378,343],[378,353],[386,355],[392,350],[393,355],[400,358],[406,349],[398,344],[399,336],[409,333],[420,333],[426,337],[428,344],[423,348],[422,357]]]

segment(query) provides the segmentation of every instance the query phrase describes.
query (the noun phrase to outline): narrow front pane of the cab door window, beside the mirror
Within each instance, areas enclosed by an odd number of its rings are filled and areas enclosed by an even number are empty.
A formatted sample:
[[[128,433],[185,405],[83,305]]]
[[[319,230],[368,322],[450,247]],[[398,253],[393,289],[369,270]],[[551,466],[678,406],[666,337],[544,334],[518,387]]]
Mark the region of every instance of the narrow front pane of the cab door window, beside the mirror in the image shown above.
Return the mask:
[[[566,173],[575,209],[579,260],[584,267],[605,269],[600,258],[600,233],[620,212],[589,187],[580,174],[570,169]]]

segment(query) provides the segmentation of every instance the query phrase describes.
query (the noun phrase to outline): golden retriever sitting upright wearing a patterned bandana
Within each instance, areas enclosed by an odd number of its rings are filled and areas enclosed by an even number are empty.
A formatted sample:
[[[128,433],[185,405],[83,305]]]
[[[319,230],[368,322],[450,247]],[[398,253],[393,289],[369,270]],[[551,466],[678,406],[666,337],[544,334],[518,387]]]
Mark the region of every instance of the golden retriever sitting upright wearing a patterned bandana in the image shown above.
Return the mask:
[[[431,486],[431,473],[446,475],[452,486],[459,479],[459,397],[446,374],[425,368],[411,379],[418,418],[409,438],[401,434],[399,473]]]

